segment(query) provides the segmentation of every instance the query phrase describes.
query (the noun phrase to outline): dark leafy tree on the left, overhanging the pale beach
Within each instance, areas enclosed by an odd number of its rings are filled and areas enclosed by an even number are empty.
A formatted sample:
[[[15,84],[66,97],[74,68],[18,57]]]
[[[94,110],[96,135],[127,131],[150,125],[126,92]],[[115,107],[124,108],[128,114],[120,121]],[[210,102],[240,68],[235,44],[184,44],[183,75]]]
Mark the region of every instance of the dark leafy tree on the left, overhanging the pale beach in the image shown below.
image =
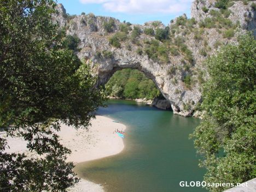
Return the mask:
[[[66,191],[78,182],[65,161],[71,151],[54,131],[61,123],[88,127],[104,100],[88,65],[52,23],[54,7],[51,0],[0,3],[0,128],[40,155],[5,153],[0,137],[1,191]]]

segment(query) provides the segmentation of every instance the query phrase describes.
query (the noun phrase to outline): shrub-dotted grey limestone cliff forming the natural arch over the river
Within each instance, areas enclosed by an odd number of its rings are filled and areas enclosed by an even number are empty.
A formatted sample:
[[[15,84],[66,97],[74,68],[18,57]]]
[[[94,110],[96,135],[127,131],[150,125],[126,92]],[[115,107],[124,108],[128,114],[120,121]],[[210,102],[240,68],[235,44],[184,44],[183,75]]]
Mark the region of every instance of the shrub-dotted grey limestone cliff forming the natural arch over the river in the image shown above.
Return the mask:
[[[121,22],[114,18],[78,15],[70,18],[61,4],[57,6],[54,20],[65,27],[67,34],[80,38],[78,56],[91,60],[91,67],[98,76],[98,84],[107,83],[115,71],[124,68],[138,69],[152,79],[162,95],[171,103],[173,112],[183,116],[194,113],[201,100],[201,83],[207,79],[203,61],[218,50],[221,44],[235,43],[238,33],[255,31],[255,10],[252,2],[243,4],[236,1],[225,11],[215,8],[216,1],[196,0],[191,7],[191,17],[180,16],[170,22],[167,28],[170,38],[166,42],[158,40],[158,60],[152,59],[147,51],[154,36],[145,34],[147,28],[154,32],[165,28],[160,22],[147,22],[144,25],[127,25],[132,29],[139,27],[141,34],[131,38],[132,31],[120,40],[115,48],[109,38],[121,30]],[[106,24],[112,22],[111,31]],[[241,28],[241,30],[239,30]],[[162,49],[165,60],[162,58]],[[151,49],[151,48],[150,48]]]

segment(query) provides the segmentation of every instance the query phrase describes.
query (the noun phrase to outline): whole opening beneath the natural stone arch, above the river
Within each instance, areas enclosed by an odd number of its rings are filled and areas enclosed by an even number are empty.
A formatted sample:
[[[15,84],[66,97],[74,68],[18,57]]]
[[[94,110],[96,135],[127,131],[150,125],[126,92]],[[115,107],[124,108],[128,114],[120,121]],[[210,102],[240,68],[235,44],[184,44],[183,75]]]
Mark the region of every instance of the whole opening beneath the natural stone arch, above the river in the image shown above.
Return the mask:
[[[153,77],[138,69],[114,68],[104,85],[112,98],[131,99],[172,110],[171,103],[162,95]]]

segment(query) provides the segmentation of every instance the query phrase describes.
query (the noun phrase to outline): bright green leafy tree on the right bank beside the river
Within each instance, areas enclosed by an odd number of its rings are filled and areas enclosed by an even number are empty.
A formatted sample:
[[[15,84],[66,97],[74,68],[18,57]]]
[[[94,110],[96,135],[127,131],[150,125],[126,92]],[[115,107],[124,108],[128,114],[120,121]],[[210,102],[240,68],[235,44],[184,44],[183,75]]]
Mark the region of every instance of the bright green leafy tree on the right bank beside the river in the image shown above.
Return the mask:
[[[247,34],[207,62],[206,116],[193,133],[209,183],[243,183],[256,177],[256,40]],[[228,187],[208,187],[223,191]]]

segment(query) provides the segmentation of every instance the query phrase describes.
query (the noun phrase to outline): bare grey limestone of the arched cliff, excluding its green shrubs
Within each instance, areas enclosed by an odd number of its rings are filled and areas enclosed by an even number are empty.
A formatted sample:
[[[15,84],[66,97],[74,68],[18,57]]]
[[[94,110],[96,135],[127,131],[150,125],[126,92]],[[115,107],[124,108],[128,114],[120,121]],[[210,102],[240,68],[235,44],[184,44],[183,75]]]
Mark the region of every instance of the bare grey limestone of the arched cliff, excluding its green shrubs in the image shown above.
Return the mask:
[[[218,10],[214,8],[215,3],[215,0],[196,0],[193,2],[191,16],[197,21],[193,28],[200,31],[200,21],[211,17],[209,11],[205,13],[202,11],[202,8],[206,7],[208,9]],[[240,22],[242,25],[241,32],[251,30],[255,34],[256,18],[255,11],[251,8],[252,3],[248,2],[248,5],[245,5],[242,1],[235,2],[230,7],[232,13],[229,19],[231,19],[233,24]],[[216,43],[222,42],[226,44],[237,42],[238,33],[234,37],[224,38],[219,33],[219,28],[203,28],[202,34],[200,34],[201,39],[196,39],[193,32],[187,32],[184,26],[178,26],[179,33],[175,32],[173,38],[184,39],[184,44],[191,51],[193,59],[188,63],[184,59],[184,53],[181,53],[176,56],[170,55],[169,61],[163,64],[160,60],[154,61],[150,59],[147,54],[139,55],[137,53],[138,48],[144,49],[143,46],[146,46],[144,40],[154,39],[154,37],[142,33],[137,39],[138,43],[133,43],[130,38],[127,38],[125,42],[121,42],[120,48],[114,48],[109,44],[108,39],[114,32],[119,30],[119,20],[110,17],[95,16],[93,14],[78,15],[68,20],[65,16],[66,10],[62,5],[59,4],[57,10],[59,13],[54,15],[54,21],[59,22],[60,26],[65,26],[67,34],[80,38],[81,43],[79,44],[79,48],[81,51],[77,55],[82,60],[92,60],[91,69],[94,71],[94,75],[98,77],[97,85],[106,84],[115,71],[124,68],[138,69],[146,77],[153,80],[162,95],[171,103],[173,112],[186,117],[193,115],[197,102],[201,100],[201,84],[197,80],[199,79],[199,72],[205,74],[205,80],[208,78],[206,67],[203,63],[206,56],[203,56],[200,51],[206,50],[207,48],[207,56],[211,56],[218,50],[218,46],[215,46]],[[247,15],[247,19],[245,15]],[[183,15],[183,18],[185,19],[186,16]],[[107,33],[104,30],[104,23],[110,20],[114,21],[113,32]],[[168,25],[170,30],[176,25],[176,21],[177,19],[174,19]],[[152,27],[154,30],[157,28],[153,26],[153,22],[148,22],[145,25],[131,25],[131,28],[134,26],[141,28],[142,32],[145,28]],[[159,22],[158,27],[164,28],[165,26]],[[225,29],[222,28],[222,30]],[[130,36],[130,34],[128,35]],[[159,43],[161,44],[161,42]],[[109,51],[109,56],[102,54],[105,50]],[[98,56],[96,53],[100,53],[101,56]],[[185,65],[189,65],[189,70],[185,69]],[[175,69],[174,72],[171,71],[173,68]],[[184,78],[187,75],[191,75],[190,78],[193,80],[193,86],[189,88],[184,83]]]

